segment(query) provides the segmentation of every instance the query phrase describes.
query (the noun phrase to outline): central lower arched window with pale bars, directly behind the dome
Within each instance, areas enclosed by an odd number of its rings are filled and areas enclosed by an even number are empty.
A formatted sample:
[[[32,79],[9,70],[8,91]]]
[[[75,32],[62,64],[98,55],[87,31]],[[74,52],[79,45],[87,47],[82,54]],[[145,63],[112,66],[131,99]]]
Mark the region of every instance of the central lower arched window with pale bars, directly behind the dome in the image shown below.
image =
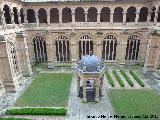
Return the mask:
[[[89,55],[91,51],[93,52],[93,40],[91,36],[83,35],[79,41],[79,58],[81,55]]]

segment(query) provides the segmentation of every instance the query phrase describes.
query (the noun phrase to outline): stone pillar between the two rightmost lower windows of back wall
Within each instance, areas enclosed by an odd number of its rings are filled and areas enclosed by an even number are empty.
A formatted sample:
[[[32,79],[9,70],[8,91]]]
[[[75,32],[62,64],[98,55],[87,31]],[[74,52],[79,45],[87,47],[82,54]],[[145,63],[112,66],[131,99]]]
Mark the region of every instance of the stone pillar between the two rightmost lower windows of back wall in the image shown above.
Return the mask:
[[[118,47],[118,45],[117,45],[117,49],[119,49],[119,53],[117,53],[117,54],[119,54],[119,66],[120,67],[124,67],[125,66],[125,55],[126,55],[126,48],[127,48],[127,40],[128,40],[128,33],[122,33],[121,34],[122,35],[122,37],[121,37],[121,42],[120,42],[120,44],[118,44],[119,45],[119,47]]]

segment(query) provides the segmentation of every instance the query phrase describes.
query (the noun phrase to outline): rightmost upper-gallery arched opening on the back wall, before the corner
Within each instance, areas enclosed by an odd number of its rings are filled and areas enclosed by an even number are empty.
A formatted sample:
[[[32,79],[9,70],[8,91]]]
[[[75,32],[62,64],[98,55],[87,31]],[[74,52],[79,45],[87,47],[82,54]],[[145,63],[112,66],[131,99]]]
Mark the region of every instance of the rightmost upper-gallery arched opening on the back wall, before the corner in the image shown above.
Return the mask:
[[[146,22],[148,16],[148,8],[142,7],[139,14],[139,22]]]

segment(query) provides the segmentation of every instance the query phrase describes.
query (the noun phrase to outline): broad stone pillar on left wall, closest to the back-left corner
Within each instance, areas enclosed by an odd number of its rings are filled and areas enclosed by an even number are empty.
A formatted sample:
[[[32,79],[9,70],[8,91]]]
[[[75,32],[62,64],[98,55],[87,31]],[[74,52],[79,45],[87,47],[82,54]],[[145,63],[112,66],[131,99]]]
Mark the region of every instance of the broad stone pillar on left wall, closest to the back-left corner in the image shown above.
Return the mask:
[[[23,32],[16,35],[17,60],[23,76],[31,76],[32,68],[29,60],[28,45]]]

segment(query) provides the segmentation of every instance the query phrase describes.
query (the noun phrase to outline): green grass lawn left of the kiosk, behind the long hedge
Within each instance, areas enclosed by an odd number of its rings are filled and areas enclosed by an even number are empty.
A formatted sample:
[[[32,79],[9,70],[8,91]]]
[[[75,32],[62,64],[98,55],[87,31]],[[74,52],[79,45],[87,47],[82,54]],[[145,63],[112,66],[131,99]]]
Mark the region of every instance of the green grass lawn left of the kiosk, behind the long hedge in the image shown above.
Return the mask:
[[[71,73],[40,73],[18,98],[15,106],[66,107]]]

